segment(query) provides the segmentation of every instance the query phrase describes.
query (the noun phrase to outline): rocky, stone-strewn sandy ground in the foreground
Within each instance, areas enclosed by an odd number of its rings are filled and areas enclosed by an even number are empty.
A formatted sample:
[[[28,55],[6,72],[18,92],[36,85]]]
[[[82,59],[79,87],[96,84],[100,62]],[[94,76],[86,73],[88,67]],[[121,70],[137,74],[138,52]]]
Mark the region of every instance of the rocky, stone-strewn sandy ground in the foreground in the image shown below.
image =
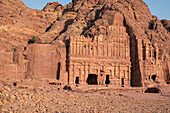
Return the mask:
[[[170,112],[170,93],[98,91],[80,93],[63,86],[22,87],[1,84],[0,112]]]

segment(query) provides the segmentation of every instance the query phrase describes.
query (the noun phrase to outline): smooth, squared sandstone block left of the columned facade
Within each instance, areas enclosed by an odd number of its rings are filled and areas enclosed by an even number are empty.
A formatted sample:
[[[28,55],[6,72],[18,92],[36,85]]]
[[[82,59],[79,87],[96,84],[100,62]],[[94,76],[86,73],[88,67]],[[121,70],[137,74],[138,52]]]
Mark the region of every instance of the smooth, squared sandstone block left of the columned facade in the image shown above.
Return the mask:
[[[28,70],[26,78],[53,79],[67,82],[65,45],[31,44],[25,51]]]

